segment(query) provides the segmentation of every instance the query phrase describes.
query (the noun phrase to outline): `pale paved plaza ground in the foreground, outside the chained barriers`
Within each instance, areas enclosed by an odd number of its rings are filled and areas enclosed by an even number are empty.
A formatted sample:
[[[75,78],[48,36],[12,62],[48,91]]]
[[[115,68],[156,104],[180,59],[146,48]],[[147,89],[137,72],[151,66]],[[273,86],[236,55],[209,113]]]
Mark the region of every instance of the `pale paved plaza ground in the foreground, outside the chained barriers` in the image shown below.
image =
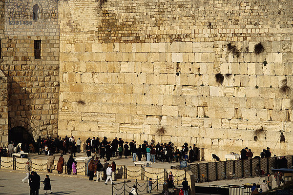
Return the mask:
[[[45,177],[45,173],[39,173],[41,181]],[[17,173],[16,171],[1,170],[0,171],[0,195],[28,195],[29,185],[22,183],[21,179],[25,176],[25,173]],[[89,181],[88,178],[81,177],[65,177],[65,176],[50,176],[52,191],[55,195],[111,195],[112,186],[110,182],[105,185],[104,182]],[[261,183],[264,177],[252,177],[252,178],[240,178],[239,180],[221,180],[205,183],[196,183],[196,186],[209,186],[209,185],[243,185],[245,183]],[[115,182],[116,188],[121,188],[124,180],[120,179]],[[133,185],[133,182],[127,183]],[[141,185],[144,183],[143,181]],[[176,183],[175,183],[176,184]],[[179,183],[178,183],[179,184]],[[180,184],[179,184],[180,185]],[[276,183],[273,179],[273,187],[276,187]],[[41,183],[40,195],[44,194],[42,190],[43,184]],[[159,190],[161,191],[161,189]],[[155,191],[154,191],[155,193]],[[146,193],[139,193],[144,195]]]

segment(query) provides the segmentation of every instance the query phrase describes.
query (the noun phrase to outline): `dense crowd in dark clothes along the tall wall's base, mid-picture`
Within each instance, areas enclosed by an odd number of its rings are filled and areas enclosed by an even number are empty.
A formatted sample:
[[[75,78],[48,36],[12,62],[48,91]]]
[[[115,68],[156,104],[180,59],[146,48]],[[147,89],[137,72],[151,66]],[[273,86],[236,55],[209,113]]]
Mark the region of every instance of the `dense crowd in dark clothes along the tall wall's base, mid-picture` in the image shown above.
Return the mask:
[[[174,147],[172,142],[158,142],[155,144],[154,140],[151,140],[150,143],[145,140],[142,144],[137,144],[135,140],[128,142],[117,137],[112,141],[108,141],[107,137],[104,137],[103,140],[100,140],[99,137],[93,137],[92,139],[88,137],[85,143],[85,151],[88,157],[91,155],[99,155],[101,158],[106,158],[106,160],[110,160],[114,156],[122,158],[124,155],[125,158],[131,156],[132,161],[136,161],[136,159],[141,161],[142,157],[146,157],[146,161],[153,163],[156,161],[171,163],[173,159],[177,162],[180,160],[193,162],[200,157],[199,148],[193,144],[193,147],[189,146],[188,149],[188,143],[184,143],[181,150]]]

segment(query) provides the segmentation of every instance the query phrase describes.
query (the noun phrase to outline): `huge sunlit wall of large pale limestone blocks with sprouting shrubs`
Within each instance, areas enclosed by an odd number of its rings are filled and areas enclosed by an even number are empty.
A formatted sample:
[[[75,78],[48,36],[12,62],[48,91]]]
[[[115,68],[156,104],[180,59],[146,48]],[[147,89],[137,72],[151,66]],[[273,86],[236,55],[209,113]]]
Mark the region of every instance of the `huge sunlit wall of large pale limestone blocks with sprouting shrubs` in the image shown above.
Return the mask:
[[[292,8],[61,1],[59,135],[195,143],[206,159],[246,146],[292,154]]]

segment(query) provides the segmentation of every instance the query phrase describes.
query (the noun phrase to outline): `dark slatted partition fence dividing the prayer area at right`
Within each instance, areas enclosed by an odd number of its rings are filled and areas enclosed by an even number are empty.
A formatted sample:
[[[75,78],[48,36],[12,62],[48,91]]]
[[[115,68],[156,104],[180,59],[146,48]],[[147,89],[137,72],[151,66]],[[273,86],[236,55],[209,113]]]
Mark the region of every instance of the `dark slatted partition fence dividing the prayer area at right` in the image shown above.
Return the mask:
[[[293,156],[285,156],[288,168],[293,167]],[[171,169],[181,169],[191,171],[199,181],[225,180],[235,177],[251,177],[256,176],[255,166],[260,165],[260,169],[265,173],[272,173],[272,169],[277,167],[277,157],[269,158],[253,158],[228,160],[221,162],[208,162],[189,164],[186,168],[180,165],[171,166]]]

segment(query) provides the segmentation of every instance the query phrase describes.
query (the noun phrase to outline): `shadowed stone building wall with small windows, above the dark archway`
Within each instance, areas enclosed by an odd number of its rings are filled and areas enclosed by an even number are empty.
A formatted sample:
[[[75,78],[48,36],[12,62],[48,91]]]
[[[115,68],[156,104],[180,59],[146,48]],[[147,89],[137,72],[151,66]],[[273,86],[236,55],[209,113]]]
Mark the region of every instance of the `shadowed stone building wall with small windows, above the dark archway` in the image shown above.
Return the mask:
[[[3,0],[0,70],[8,78],[9,130],[21,126],[33,137],[57,135],[59,24],[57,0]],[[40,18],[33,20],[33,6]],[[42,40],[41,59],[34,41]]]

